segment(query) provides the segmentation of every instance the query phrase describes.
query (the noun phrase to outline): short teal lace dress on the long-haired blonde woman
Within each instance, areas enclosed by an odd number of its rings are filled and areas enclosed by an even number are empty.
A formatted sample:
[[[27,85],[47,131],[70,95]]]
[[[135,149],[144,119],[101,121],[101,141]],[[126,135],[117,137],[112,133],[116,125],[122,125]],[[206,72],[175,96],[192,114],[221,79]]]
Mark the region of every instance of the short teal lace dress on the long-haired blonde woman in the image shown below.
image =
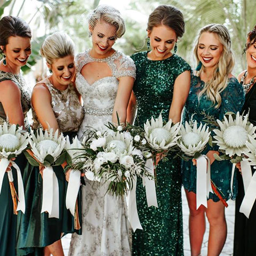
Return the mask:
[[[236,113],[241,111],[244,105],[244,91],[242,85],[240,85],[236,78],[229,78],[228,85],[225,90],[221,92],[221,106],[215,109],[212,106],[211,100],[203,94],[198,102],[198,94],[203,90],[204,82],[197,76],[192,76],[191,87],[189,96],[185,105],[185,111],[183,115],[183,123],[189,121],[191,116],[198,123],[204,123],[203,119],[206,113],[213,116],[215,119],[223,119],[223,116],[228,111]],[[213,132],[212,132],[213,133]],[[212,134],[214,135],[214,133]],[[209,150],[218,150],[217,146],[207,146],[203,151],[206,154]],[[233,195],[231,195],[230,180],[231,180],[232,164],[230,161],[214,161],[211,165],[211,179],[217,186],[220,194],[226,201],[229,198],[235,199],[237,194],[237,180],[234,178],[233,183]],[[236,176],[236,175],[235,175]],[[182,161],[182,182],[185,189],[196,193],[196,166],[192,161]],[[213,199],[214,202],[218,202],[219,198],[210,193],[209,199]]]

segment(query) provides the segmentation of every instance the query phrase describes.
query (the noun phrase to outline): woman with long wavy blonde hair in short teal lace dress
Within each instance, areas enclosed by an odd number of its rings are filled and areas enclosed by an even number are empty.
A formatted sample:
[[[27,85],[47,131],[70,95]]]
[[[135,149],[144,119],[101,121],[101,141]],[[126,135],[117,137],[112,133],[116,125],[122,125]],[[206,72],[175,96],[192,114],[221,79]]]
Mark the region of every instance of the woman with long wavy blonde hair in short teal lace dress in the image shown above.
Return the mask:
[[[199,62],[195,75],[191,77],[191,88],[186,102],[183,122],[193,116],[197,122],[204,122],[204,114],[214,119],[223,119],[227,111],[236,113],[242,109],[244,93],[242,85],[231,74],[235,60],[231,51],[230,36],[225,26],[211,24],[203,27],[196,39],[194,54]],[[231,196],[230,180],[232,164],[229,161],[215,161],[213,154],[218,147],[208,146],[203,154],[210,158],[211,179],[226,201],[235,199],[237,188]],[[210,223],[208,256],[221,253],[227,236],[225,206],[220,199],[210,193],[207,209],[201,205],[196,210],[196,166],[195,160],[182,163],[183,186],[189,206],[189,237],[191,255],[201,253],[205,233],[205,213]]]

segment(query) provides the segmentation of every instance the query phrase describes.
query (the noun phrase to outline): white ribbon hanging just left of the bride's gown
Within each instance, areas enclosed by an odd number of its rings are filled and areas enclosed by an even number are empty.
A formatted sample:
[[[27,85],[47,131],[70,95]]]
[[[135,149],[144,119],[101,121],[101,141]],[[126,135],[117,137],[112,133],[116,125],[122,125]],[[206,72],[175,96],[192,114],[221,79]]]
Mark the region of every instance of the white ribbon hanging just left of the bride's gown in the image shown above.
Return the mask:
[[[66,207],[75,217],[76,199],[80,187],[81,172],[78,170],[70,170],[69,182],[66,195]]]

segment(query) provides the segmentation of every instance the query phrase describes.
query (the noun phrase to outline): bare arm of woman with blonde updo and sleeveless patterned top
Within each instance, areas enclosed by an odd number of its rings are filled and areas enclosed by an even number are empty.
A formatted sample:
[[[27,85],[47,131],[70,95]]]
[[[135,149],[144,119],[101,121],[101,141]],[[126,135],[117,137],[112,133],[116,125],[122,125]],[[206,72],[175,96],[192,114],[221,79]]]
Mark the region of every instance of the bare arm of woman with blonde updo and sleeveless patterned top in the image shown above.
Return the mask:
[[[38,121],[43,129],[59,129],[57,119],[53,113],[51,105],[51,94],[44,83],[35,85],[31,95],[31,105],[35,110]]]

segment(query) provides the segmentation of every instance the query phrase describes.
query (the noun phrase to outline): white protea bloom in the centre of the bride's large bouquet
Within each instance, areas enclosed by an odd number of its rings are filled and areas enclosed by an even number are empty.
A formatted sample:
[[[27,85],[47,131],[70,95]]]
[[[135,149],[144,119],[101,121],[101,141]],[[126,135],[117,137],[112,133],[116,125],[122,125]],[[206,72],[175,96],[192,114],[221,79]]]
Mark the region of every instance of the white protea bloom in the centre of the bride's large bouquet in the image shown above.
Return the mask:
[[[132,138],[125,137],[122,132],[116,132],[106,137],[106,152],[113,152],[118,156],[130,155],[132,153]]]

